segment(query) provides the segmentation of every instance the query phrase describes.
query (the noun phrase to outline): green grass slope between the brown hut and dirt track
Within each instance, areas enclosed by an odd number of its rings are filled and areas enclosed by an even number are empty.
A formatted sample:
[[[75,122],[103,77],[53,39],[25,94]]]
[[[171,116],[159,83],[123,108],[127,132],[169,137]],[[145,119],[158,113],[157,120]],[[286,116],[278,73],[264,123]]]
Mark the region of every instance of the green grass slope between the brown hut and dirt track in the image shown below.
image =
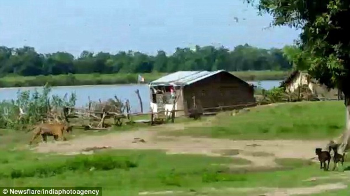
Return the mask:
[[[219,113],[211,126],[169,131],[165,135],[240,139],[330,139],[345,126],[343,101],[287,103],[251,108],[236,116]]]

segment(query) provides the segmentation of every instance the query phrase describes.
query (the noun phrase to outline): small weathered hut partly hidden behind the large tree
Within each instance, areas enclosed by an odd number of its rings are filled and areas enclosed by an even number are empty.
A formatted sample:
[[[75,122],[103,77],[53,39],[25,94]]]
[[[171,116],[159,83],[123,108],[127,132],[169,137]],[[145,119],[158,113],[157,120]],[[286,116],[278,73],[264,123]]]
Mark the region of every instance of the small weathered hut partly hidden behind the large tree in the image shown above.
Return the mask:
[[[318,83],[308,73],[303,71],[293,71],[285,80],[281,82],[282,88],[285,88],[287,93],[293,93],[299,90],[302,86],[307,86],[311,93],[324,100],[340,100],[343,99],[342,92],[338,89],[328,89],[324,84]]]

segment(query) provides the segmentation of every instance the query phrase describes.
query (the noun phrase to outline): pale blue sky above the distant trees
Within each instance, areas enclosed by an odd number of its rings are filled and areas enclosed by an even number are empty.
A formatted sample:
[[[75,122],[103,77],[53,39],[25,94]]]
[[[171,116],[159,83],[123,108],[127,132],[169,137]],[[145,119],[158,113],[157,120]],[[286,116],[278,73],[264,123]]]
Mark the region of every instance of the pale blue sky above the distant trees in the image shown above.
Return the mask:
[[[0,45],[154,55],[195,45],[281,48],[298,38],[288,27],[263,30],[271,21],[243,0],[2,0]]]

